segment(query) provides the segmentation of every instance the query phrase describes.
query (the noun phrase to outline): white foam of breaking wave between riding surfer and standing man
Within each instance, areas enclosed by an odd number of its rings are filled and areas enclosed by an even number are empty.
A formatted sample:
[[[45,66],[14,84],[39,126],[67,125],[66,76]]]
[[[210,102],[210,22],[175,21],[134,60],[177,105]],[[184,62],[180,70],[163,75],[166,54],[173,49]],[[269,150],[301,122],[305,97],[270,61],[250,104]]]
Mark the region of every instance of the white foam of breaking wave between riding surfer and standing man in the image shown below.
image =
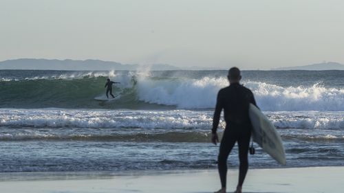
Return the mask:
[[[144,102],[175,105],[180,108],[213,108],[219,89],[226,87],[224,78],[202,78],[201,80],[165,79],[138,81],[138,98]]]

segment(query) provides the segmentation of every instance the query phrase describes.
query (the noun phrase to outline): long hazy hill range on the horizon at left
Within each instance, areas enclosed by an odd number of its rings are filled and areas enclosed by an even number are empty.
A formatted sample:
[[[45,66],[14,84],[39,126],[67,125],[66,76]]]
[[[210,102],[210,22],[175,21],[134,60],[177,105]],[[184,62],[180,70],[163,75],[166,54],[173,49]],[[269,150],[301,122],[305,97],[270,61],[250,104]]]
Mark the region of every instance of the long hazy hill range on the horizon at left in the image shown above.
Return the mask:
[[[47,60],[21,58],[0,62],[0,69],[40,69],[40,70],[176,70],[171,65],[122,65],[121,63],[103,60]]]

